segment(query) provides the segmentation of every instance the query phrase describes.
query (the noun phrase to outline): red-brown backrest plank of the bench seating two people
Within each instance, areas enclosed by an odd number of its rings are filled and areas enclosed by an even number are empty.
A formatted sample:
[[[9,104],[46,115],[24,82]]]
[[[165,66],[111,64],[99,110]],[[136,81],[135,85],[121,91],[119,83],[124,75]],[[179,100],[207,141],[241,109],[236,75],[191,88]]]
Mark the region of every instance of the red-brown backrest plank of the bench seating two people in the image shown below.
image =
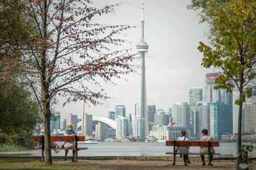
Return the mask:
[[[220,147],[219,141],[170,141],[166,140],[166,146],[177,147]]]

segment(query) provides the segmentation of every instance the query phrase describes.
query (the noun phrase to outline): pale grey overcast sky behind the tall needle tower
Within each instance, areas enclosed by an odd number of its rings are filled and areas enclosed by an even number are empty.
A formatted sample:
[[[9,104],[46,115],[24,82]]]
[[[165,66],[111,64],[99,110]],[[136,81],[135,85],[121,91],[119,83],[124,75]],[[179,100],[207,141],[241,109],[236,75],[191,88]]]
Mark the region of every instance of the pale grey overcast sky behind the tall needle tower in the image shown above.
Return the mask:
[[[95,0],[95,5],[116,4],[124,1]],[[125,1],[116,12],[97,17],[103,24],[125,24],[137,26],[122,34],[131,41],[131,47],[140,42],[140,0]],[[201,66],[202,54],[197,50],[200,41],[207,42],[207,26],[199,23],[199,16],[186,6],[190,0],[144,0],[145,41],[149,45],[146,53],[146,92],[147,103],[157,109],[168,110],[176,103],[188,102],[190,87],[205,84],[206,72],[214,70]],[[126,114],[134,114],[135,102],[140,100],[140,75],[125,77],[127,81],[116,80],[116,85],[106,85],[106,93],[111,97],[102,106],[87,105],[88,114],[108,117],[116,105],[125,105]],[[233,94],[233,100],[237,94]],[[81,117],[82,102],[70,103],[62,107],[61,99],[55,107],[62,118],[69,113]],[[238,107],[233,107],[233,129],[237,131]]]

